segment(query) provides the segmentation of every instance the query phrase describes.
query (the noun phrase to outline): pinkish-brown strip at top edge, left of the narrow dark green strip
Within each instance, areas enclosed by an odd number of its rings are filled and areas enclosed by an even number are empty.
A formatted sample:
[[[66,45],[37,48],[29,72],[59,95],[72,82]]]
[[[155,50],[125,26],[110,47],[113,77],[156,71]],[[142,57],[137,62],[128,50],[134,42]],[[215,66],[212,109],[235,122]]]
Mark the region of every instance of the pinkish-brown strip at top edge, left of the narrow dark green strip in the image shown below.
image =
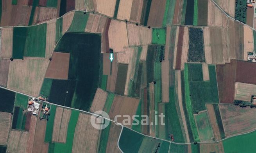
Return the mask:
[[[132,0],[130,21],[140,23],[143,0]]]

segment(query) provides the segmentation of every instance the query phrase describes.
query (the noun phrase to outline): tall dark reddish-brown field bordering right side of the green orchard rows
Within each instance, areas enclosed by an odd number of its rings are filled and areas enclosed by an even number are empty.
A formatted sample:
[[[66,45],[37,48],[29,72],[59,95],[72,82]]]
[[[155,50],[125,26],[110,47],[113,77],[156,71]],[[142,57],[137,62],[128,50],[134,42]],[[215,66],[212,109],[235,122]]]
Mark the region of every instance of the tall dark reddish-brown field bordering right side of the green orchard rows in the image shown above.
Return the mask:
[[[235,94],[236,60],[216,65],[220,103],[233,103]]]

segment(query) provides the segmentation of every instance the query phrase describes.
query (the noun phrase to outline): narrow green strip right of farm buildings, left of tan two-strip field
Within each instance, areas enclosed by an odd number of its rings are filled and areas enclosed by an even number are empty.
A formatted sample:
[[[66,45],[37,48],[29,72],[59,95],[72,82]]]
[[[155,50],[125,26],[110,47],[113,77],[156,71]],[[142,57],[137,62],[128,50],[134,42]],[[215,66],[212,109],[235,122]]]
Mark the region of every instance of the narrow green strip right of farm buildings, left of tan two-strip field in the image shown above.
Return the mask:
[[[51,105],[50,106],[51,115],[48,118],[46,131],[45,131],[45,134],[47,135],[47,137],[45,137],[45,142],[52,142],[52,131],[54,126],[55,112],[56,112],[56,105]]]

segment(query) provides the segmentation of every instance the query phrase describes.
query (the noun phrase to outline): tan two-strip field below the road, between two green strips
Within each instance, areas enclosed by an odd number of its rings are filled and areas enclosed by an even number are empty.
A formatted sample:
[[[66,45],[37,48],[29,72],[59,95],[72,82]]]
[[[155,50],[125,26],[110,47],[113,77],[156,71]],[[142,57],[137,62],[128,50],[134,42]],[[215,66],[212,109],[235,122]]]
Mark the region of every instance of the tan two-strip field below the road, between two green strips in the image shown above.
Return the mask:
[[[52,132],[52,141],[66,143],[70,115],[70,109],[63,110],[63,108],[57,107],[54,119],[54,128]]]

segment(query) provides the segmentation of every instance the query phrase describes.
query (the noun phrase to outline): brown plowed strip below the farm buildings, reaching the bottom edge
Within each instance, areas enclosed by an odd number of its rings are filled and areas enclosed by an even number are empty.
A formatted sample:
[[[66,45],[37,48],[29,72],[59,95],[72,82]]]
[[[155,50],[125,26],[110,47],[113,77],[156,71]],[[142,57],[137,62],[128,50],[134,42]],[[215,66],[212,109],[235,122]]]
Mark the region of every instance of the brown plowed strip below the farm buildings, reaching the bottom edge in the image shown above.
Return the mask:
[[[46,119],[38,119],[34,137],[33,153],[48,153],[48,143],[45,143]],[[27,143],[27,142],[26,142]]]

